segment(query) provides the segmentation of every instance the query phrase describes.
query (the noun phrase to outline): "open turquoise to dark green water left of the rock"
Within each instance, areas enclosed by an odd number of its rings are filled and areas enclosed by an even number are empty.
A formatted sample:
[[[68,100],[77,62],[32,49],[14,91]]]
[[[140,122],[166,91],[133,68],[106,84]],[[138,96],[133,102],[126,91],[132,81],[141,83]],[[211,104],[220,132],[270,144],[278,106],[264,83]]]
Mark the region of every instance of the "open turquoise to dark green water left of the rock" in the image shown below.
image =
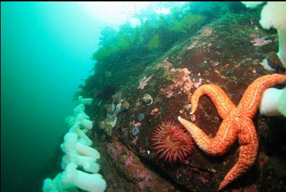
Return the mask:
[[[93,22],[76,3],[1,2],[1,191],[43,181],[94,64]]]

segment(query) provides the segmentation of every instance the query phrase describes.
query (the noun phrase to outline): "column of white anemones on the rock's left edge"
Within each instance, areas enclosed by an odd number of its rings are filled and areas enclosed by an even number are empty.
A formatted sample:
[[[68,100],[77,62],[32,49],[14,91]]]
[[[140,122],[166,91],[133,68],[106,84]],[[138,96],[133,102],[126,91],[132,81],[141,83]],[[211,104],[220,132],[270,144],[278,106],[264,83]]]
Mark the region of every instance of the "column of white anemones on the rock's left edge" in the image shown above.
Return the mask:
[[[78,106],[73,109],[73,116],[66,118],[69,132],[64,135],[61,149],[63,172],[55,179],[47,178],[43,181],[43,192],[78,191],[78,188],[90,192],[103,192],[106,181],[99,174],[99,164],[96,160],[100,153],[90,147],[92,140],[86,132],[92,129],[92,121],[85,114],[85,104],[92,104],[91,98],[78,97]],[[79,168],[80,170],[78,170]]]

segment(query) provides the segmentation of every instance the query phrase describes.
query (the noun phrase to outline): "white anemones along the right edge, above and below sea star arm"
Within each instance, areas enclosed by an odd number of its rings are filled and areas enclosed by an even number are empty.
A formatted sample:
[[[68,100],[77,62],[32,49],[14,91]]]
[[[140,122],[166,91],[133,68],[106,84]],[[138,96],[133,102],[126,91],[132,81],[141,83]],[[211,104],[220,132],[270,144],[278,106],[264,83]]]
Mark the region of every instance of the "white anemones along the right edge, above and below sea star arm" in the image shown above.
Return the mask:
[[[264,1],[241,1],[248,8],[255,8],[264,3]],[[260,25],[264,29],[277,29],[279,50],[278,57],[286,68],[286,2],[285,1],[267,1],[262,8]],[[269,67],[264,59],[264,68],[269,71],[275,71]],[[279,90],[269,88],[264,91],[262,101],[259,104],[259,112],[265,116],[286,116],[286,88]]]

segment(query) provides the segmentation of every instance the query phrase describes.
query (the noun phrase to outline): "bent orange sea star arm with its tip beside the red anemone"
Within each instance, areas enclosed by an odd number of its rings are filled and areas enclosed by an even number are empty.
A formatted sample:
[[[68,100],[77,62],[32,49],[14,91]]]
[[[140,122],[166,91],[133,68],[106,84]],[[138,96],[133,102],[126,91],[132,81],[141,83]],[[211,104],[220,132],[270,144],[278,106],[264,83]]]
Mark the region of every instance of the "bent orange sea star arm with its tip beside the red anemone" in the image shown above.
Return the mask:
[[[210,156],[220,156],[224,154],[236,141],[237,132],[231,127],[232,124],[229,122],[222,121],[224,123],[220,125],[215,137],[210,138],[203,130],[194,125],[194,123],[180,116],[178,117],[178,121],[190,132],[194,142],[199,148]]]

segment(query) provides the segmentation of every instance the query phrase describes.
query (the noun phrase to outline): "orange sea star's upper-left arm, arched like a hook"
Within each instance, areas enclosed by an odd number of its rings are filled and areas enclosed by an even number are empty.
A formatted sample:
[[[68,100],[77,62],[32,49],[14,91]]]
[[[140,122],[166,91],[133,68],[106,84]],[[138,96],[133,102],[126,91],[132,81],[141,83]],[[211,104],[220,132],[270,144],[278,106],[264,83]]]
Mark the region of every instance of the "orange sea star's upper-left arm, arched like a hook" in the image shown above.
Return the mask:
[[[194,94],[192,95],[192,111],[190,114],[194,114],[196,111],[199,104],[199,98],[202,95],[208,95],[208,97],[210,97],[210,100],[215,104],[221,118],[226,118],[230,111],[235,108],[233,102],[229,100],[227,94],[219,86],[215,84],[206,84],[201,85],[194,91]]]

